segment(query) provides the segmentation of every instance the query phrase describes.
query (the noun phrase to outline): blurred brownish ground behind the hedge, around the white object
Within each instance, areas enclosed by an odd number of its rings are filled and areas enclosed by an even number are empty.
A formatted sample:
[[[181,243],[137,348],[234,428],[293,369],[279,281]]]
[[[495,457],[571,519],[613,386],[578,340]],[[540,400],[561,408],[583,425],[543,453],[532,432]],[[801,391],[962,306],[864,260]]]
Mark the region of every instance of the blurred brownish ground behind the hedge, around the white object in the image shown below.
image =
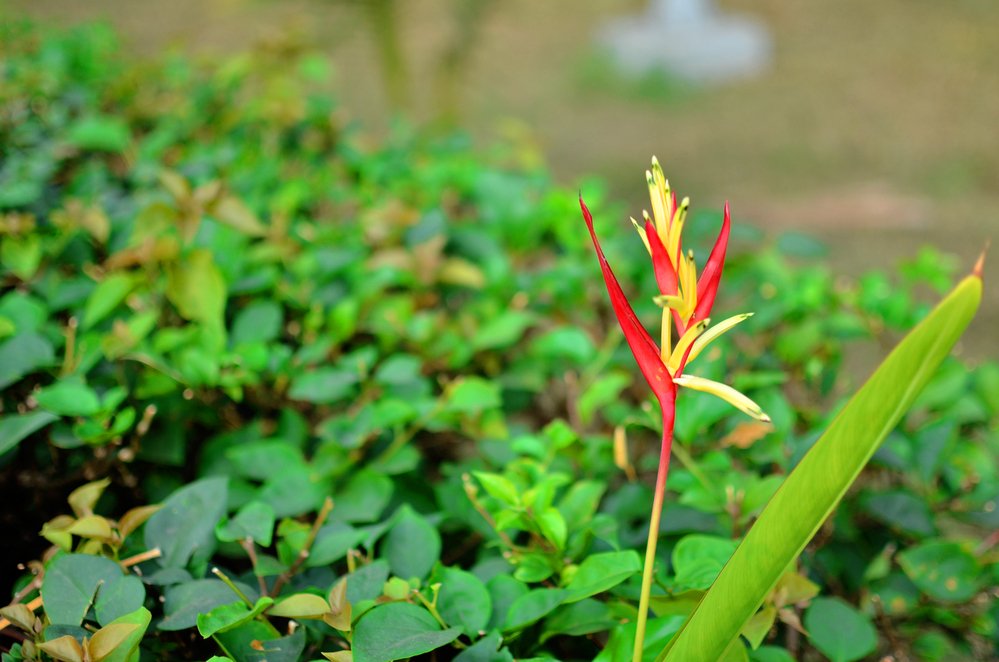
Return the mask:
[[[636,215],[656,154],[695,206],[728,199],[737,220],[815,235],[845,275],[924,244],[970,268],[999,228],[999,3],[713,4],[769,35],[762,71],[713,84],[623,71],[602,36],[651,17],[647,0],[8,0],[7,10],[57,25],[106,20],[139,54],[317,48],[342,112],[373,134],[404,117],[484,144],[513,135],[561,183],[599,175]],[[994,355],[999,288],[986,296],[975,354]]]

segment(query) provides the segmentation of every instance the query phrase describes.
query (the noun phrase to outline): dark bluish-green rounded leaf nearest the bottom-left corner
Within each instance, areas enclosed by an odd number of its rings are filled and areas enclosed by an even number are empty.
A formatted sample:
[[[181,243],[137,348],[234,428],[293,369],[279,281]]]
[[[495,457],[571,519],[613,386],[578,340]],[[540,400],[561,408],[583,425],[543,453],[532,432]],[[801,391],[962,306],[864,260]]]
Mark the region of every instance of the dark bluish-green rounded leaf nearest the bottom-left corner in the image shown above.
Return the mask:
[[[101,585],[122,576],[117,563],[90,554],[62,554],[45,570],[42,600],[49,621],[57,625],[80,625]]]

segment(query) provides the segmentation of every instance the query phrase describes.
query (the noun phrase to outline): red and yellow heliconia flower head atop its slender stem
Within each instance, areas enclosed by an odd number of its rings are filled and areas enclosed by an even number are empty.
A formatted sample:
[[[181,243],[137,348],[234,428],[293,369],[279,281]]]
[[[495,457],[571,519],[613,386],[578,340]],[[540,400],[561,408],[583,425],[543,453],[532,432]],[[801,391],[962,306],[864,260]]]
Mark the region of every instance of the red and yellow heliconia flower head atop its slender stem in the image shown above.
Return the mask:
[[[710,326],[709,315],[718,293],[728,248],[731,225],[728,204],[725,205],[718,239],[698,278],[693,252],[688,251],[685,255],[681,241],[690,206],[689,199],[684,198],[677,204],[676,195],[670,190],[669,182],[663,176],[662,168],[655,158],[652,159],[652,170],[646,172],[646,179],[652,201],[652,217],[650,218],[647,213],[643,214],[644,226],[635,219],[631,220],[652,258],[653,273],[660,292],[659,296],[654,298],[663,308],[659,345],[642,326],[614,276],[597,239],[593,216],[583,202],[582,196],[579,204],[590,238],[593,240],[614,314],[645,381],[648,382],[663,409],[664,446],[669,445],[672,440],[672,410],[675,406],[676,386],[710,393],[754,418],[769,421],[770,418],[759,405],[731,386],[684,374],[687,364],[699,356],[709,343],[752,315],[752,313],[735,315],[713,327]],[[671,332],[673,326],[676,327],[675,342]]]

